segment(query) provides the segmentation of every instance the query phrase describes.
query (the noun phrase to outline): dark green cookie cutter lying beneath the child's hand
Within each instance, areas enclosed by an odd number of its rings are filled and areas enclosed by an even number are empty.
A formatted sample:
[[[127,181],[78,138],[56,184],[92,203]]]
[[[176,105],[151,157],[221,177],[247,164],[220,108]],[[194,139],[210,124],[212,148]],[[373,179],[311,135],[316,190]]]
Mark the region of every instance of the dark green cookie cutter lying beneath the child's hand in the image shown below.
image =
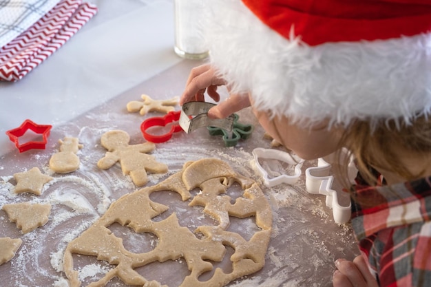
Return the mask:
[[[235,119],[233,120],[233,128],[231,134],[226,129],[220,127],[207,127],[211,136],[223,136],[224,145],[227,147],[235,147],[238,140],[246,140],[253,133],[253,125],[244,125],[238,123],[240,116],[233,114]]]

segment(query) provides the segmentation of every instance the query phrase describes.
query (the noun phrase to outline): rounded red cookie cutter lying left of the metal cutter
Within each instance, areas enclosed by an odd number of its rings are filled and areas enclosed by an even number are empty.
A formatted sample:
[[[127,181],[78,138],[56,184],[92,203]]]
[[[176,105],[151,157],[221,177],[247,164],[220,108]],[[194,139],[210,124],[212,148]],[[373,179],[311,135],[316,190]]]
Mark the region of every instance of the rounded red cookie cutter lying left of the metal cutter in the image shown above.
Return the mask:
[[[180,119],[180,114],[181,111],[169,111],[166,116],[147,118],[146,120],[144,120],[143,123],[140,125],[140,130],[142,131],[145,140],[154,143],[166,142],[172,137],[174,133],[182,131],[180,125],[176,123],[172,125],[171,129],[167,132],[167,134],[156,136],[147,133],[147,129],[149,129],[150,127],[166,127],[166,125],[169,123],[178,122],[178,120]]]

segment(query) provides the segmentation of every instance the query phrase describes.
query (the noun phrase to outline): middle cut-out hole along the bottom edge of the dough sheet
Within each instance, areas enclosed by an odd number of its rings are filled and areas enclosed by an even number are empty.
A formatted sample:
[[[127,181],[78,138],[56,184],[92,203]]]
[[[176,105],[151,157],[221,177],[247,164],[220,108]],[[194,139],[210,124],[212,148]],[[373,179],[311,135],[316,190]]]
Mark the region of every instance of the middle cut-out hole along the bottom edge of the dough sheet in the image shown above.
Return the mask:
[[[180,286],[186,276],[190,275],[184,258],[167,260],[165,262],[151,262],[135,269],[137,273],[148,281],[158,281],[161,285],[169,284],[169,287]]]

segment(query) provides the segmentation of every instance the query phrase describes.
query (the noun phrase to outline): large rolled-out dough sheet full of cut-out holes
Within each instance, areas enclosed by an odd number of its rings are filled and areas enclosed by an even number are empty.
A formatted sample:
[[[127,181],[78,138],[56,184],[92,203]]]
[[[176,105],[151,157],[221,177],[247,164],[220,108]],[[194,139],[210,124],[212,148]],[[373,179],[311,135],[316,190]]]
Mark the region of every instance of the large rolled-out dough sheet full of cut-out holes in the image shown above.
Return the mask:
[[[227,191],[234,182],[240,184],[243,194],[232,204]],[[169,209],[169,206],[153,202],[149,197],[151,193],[174,191],[185,201],[191,198],[189,191],[196,185],[202,192],[193,198],[189,206],[204,206],[204,213],[218,220],[218,226],[199,226],[191,232],[189,228],[180,226],[176,213],[171,213],[165,220],[151,220]],[[247,241],[238,233],[227,231],[229,216],[253,216],[259,230]],[[133,228],[136,233],[153,233],[158,237],[157,246],[147,253],[127,251],[123,240],[109,230],[109,226],[114,223]],[[63,270],[71,287],[81,286],[78,270],[74,270],[72,254],[95,256],[116,267],[98,281],[92,282],[92,286],[105,286],[112,278],[118,277],[132,286],[159,287],[160,282],[148,281],[134,268],[151,262],[184,258],[191,272],[180,287],[221,287],[234,279],[255,273],[264,266],[271,228],[271,207],[257,183],[235,173],[222,160],[209,158],[187,162],[180,172],[167,180],[123,195],[113,202],[102,217],[67,245]],[[198,233],[203,236],[196,236]],[[222,261],[226,246],[235,251],[230,257],[231,273],[224,273],[217,268],[213,277],[200,281],[200,275],[213,270],[211,262]]]

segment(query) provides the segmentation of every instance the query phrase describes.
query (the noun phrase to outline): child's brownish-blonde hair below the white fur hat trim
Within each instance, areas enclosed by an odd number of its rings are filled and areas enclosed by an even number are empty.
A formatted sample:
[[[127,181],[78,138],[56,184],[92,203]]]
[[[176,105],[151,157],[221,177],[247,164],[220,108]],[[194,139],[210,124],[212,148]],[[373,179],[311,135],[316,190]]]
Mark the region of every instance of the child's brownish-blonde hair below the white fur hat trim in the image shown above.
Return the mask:
[[[339,144],[355,156],[362,178],[370,185],[378,182],[370,168],[390,171],[406,181],[415,180],[424,176],[428,162],[418,162],[423,166],[411,171],[403,164],[399,153],[430,158],[431,118],[420,116],[410,125],[397,125],[395,120],[390,120],[375,127],[366,120],[355,120],[344,130]],[[346,178],[347,171],[340,172]]]

